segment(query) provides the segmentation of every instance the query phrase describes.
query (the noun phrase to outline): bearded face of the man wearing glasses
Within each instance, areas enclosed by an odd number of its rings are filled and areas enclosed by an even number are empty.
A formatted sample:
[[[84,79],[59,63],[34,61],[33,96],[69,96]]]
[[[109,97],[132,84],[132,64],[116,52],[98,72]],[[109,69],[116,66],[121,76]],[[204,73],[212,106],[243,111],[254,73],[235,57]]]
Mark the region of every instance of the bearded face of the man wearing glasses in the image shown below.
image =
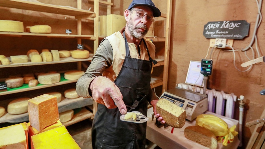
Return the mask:
[[[130,11],[130,19],[127,22],[127,27],[130,34],[138,39],[144,38],[147,34],[152,22],[147,20],[147,16],[139,17],[136,15],[136,11],[140,10],[143,11],[147,15],[153,15],[151,8],[146,6],[136,6],[132,8],[133,10]]]

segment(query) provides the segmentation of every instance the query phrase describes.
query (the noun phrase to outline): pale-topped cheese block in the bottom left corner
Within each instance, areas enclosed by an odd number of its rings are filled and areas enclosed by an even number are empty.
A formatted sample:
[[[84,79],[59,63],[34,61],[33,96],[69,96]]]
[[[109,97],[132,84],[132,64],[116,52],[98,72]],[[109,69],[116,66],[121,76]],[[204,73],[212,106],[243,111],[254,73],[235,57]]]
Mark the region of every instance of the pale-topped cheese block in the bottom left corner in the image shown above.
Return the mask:
[[[27,149],[27,138],[21,124],[0,129],[0,134],[0,148]]]

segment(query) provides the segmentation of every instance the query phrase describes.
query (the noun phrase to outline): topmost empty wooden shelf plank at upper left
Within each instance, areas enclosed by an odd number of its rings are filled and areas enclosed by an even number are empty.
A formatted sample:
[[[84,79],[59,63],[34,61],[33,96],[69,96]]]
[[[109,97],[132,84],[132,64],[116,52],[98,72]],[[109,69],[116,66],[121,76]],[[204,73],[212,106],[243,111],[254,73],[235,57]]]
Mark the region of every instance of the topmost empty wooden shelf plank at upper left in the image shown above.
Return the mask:
[[[62,7],[51,4],[37,3],[37,2],[28,2],[22,0],[0,0],[0,6],[9,7],[9,8],[17,8],[23,10],[33,10],[33,11],[41,11],[48,13],[56,13],[61,15],[70,15],[70,16],[80,16],[87,15],[86,17],[94,17],[94,12],[70,8],[70,7]]]

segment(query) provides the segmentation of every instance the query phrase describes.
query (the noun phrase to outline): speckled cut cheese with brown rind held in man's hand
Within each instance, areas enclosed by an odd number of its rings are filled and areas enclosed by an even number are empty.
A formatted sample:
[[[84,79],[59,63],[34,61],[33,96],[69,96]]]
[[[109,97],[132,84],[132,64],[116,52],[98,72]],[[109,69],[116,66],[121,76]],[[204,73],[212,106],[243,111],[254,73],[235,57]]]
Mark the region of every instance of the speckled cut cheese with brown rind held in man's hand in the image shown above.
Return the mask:
[[[156,110],[171,127],[182,128],[186,122],[186,111],[165,98],[158,100]]]

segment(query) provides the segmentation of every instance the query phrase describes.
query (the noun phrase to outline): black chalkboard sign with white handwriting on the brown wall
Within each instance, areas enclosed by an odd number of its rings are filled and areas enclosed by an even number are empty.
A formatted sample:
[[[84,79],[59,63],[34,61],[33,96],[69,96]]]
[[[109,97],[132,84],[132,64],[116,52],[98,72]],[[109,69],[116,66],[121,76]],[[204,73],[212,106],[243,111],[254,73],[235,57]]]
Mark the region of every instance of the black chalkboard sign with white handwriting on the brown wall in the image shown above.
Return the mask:
[[[249,23],[245,20],[216,21],[204,25],[206,38],[243,39],[248,36]]]

